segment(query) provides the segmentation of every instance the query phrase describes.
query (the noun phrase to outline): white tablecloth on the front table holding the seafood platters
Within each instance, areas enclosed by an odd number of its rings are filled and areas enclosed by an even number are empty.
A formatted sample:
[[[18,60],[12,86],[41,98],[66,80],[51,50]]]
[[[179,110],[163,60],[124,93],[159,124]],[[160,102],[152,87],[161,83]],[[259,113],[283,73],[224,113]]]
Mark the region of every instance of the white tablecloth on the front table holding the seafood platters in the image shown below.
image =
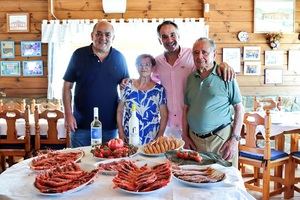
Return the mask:
[[[97,160],[92,157],[89,152],[90,147],[83,148],[85,156],[82,163],[94,165]],[[149,158],[137,155],[139,159],[149,161],[161,161],[165,158]],[[136,158],[135,157],[135,158]],[[129,194],[118,189],[113,189],[113,176],[99,175],[94,183],[86,186],[80,191],[72,194],[60,196],[45,196],[37,192],[33,186],[36,174],[32,172],[28,164],[30,159],[22,161],[0,174],[0,199],[8,197],[11,199],[71,199],[71,200],[254,200],[249,193],[246,192],[240,172],[234,167],[223,167],[215,164],[213,167],[218,168],[226,173],[224,184],[215,187],[190,187],[179,183],[175,178],[164,189],[146,195]],[[2,195],[2,196],[1,196]],[[2,197],[2,198],[1,198]]]

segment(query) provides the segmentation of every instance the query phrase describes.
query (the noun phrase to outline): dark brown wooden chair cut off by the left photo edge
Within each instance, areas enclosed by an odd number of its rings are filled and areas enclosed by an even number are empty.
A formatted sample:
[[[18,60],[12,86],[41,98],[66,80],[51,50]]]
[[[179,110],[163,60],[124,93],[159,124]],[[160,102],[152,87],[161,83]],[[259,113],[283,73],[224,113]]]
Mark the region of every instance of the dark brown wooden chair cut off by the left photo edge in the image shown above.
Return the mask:
[[[9,165],[13,163],[13,158],[30,157],[30,126],[29,126],[29,106],[26,106],[25,112],[17,109],[3,110],[0,112],[0,118],[6,120],[7,133],[0,137],[0,155],[1,167],[6,169],[6,157],[9,158]],[[25,120],[24,136],[18,136],[16,130],[16,120]]]

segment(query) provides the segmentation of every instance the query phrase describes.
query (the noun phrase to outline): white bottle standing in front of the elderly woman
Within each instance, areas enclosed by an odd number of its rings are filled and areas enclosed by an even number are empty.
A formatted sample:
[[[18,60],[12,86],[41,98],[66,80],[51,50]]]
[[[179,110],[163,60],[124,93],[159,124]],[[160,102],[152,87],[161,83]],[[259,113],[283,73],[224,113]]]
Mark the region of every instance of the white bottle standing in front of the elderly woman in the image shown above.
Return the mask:
[[[131,107],[131,117],[129,119],[129,144],[138,146],[140,144],[140,128],[139,128],[139,119],[136,116],[136,106],[132,104]]]

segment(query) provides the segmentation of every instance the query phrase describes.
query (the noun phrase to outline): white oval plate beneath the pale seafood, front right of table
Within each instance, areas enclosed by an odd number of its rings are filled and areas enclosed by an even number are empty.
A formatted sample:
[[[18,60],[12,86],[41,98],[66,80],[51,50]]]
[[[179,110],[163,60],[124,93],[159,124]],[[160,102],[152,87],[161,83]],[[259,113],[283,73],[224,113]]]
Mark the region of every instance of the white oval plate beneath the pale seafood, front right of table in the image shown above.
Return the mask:
[[[209,167],[209,165],[182,165],[180,166],[180,168],[183,168],[183,169],[204,169],[204,168],[207,168]],[[214,168],[214,167],[212,167]],[[216,169],[214,168],[215,170],[217,171],[220,171],[219,169]],[[223,173],[223,172],[222,172]],[[179,182],[181,183],[184,183],[186,185],[190,185],[190,186],[193,186],[193,187],[215,187],[215,186],[221,186],[224,184],[224,180],[226,179],[226,174],[225,174],[225,177],[221,180],[221,181],[218,181],[218,182],[214,182],[214,183],[194,183],[194,182],[189,182],[189,181],[185,181],[185,180],[182,180],[180,178],[177,178],[175,175],[173,175],[172,173],[172,176]]]

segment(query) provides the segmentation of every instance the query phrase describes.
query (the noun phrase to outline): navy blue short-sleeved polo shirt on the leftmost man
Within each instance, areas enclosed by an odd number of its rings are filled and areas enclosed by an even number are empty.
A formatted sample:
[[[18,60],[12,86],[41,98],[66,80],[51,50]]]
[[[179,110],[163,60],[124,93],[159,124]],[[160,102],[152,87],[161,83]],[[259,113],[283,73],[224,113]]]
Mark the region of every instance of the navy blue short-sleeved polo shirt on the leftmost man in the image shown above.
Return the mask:
[[[92,45],[73,53],[63,79],[76,83],[73,112],[79,129],[90,129],[93,107],[99,108],[104,130],[117,128],[117,86],[128,77],[126,60],[114,48],[103,62],[93,53]]]

